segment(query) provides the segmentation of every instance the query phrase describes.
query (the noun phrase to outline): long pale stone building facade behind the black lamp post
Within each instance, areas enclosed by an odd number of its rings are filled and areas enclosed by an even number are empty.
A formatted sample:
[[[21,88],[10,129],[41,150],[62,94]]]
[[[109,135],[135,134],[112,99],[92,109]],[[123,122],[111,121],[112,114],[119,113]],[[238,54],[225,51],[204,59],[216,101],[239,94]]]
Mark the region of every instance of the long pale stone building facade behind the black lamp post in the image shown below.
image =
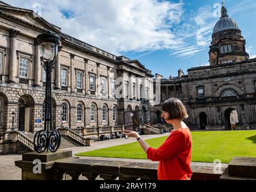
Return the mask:
[[[156,121],[154,76],[139,61],[64,34],[31,10],[4,3],[0,10],[0,132],[13,128],[13,112],[16,130],[43,128],[45,73],[36,38],[47,31],[61,37],[52,73],[53,127],[123,125],[124,110],[140,110],[142,122]]]

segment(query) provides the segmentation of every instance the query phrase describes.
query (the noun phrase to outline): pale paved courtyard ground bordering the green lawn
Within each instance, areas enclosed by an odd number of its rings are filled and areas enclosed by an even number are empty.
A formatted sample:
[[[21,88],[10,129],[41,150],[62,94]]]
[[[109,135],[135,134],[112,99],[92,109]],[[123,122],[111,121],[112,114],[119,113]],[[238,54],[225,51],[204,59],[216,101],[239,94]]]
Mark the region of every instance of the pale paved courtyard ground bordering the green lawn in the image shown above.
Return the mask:
[[[143,139],[153,139],[156,137],[163,137],[168,136],[169,133],[160,134],[160,135],[144,135],[142,136]],[[132,143],[136,142],[135,138],[121,138],[121,139],[112,139],[112,140],[105,140],[96,142],[91,146],[82,146],[82,147],[73,147],[73,148],[66,148],[61,150],[71,150],[73,153],[73,156],[79,152],[85,152],[85,151],[93,151],[95,149],[102,149],[102,148],[108,148],[111,146],[117,146],[122,145],[126,143]],[[100,159],[100,160],[118,160],[118,161],[134,161],[134,162],[141,162],[141,163],[155,163],[150,160],[135,160],[135,159],[125,159],[125,158],[102,158],[102,157],[79,157],[79,158],[91,158],[91,159]],[[14,161],[21,160],[22,155],[12,154],[12,155],[0,155],[0,180],[20,180],[22,177],[21,169],[19,167],[16,167],[14,164]],[[215,164],[213,163],[195,163],[192,162],[191,166],[194,165],[200,165],[200,166],[206,166],[206,167],[213,167]],[[222,167],[227,167],[227,164],[222,164]],[[85,177],[81,176],[79,179],[86,179]],[[101,179],[96,178],[96,179]]]

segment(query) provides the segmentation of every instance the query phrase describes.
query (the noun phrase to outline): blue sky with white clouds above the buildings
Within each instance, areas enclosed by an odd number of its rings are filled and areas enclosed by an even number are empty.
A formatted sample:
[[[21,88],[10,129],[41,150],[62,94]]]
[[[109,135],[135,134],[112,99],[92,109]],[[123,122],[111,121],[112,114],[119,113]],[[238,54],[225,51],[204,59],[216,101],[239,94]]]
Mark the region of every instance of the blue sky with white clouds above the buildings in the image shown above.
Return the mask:
[[[8,0],[36,11],[72,35],[117,56],[138,59],[153,74],[177,76],[181,68],[209,65],[213,26],[221,0]],[[118,3],[117,3],[118,2]],[[255,0],[226,0],[228,15],[246,39],[246,50],[256,56]]]

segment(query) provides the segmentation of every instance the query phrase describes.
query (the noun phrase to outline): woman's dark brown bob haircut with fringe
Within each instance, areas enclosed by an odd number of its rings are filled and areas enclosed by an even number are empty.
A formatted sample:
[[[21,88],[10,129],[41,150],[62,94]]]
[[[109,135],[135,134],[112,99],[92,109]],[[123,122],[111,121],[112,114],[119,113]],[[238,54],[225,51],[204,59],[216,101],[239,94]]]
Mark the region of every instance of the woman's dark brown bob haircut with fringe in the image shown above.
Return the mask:
[[[169,120],[186,119],[187,110],[178,98],[169,98],[162,103],[162,110],[169,113]]]

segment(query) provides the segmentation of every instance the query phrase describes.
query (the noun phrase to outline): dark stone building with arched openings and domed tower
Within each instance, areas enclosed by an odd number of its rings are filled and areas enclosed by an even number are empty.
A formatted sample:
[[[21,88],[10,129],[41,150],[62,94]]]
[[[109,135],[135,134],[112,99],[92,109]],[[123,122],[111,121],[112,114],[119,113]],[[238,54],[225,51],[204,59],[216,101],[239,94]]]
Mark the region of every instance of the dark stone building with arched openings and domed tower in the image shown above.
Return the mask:
[[[249,59],[241,30],[224,5],[213,29],[209,62],[190,68],[187,75],[179,70],[178,77],[162,79],[162,101],[180,98],[194,129],[256,128],[256,59]]]

